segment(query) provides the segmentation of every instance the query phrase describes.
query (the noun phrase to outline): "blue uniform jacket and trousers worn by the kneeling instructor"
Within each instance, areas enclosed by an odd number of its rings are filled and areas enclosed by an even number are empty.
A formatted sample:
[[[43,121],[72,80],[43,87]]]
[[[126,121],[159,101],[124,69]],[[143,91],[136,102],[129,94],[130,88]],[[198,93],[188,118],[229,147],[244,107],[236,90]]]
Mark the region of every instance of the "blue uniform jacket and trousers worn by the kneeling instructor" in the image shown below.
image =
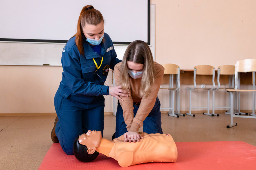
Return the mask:
[[[106,81],[109,68],[114,70],[115,65],[121,62],[116,58],[113,42],[107,33],[104,33],[105,41],[101,42],[100,55],[93,51],[85,38],[84,55],[81,55],[75,38],[71,38],[63,48],[62,80],[54,97],[54,106],[59,118],[55,133],[63,151],[68,155],[73,155],[73,144],[78,135],[88,130],[100,130],[103,137],[103,95],[109,95],[109,88],[103,81]],[[100,66],[99,70],[93,58]]]

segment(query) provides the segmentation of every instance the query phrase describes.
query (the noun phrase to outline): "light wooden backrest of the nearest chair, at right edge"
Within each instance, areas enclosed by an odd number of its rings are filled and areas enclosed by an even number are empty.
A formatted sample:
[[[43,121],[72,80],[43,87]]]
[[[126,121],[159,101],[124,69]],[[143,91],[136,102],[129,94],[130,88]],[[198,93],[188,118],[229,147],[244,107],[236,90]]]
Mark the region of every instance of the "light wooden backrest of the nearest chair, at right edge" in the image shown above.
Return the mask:
[[[256,59],[245,59],[236,62],[236,72],[256,71]]]

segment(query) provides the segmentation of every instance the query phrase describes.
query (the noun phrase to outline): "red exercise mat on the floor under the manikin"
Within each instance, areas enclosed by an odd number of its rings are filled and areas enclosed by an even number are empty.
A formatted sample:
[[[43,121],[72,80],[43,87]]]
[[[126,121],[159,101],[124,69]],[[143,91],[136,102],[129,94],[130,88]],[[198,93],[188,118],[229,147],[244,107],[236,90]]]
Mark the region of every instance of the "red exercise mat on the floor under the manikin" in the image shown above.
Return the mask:
[[[178,159],[175,163],[153,162],[121,167],[115,159],[103,154],[89,163],[66,155],[60,144],[52,144],[40,170],[108,170],[108,169],[178,169],[178,170],[255,170],[256,147],[245,142],[176,142]]]

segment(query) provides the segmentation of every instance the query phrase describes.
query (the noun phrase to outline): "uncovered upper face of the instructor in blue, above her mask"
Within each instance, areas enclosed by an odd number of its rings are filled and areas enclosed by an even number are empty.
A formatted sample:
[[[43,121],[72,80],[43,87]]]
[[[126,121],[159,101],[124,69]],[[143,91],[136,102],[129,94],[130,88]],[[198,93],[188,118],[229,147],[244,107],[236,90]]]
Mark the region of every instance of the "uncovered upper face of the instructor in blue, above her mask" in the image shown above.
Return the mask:
[[[101,21],[97,26],[86,24],[82,29],[86,37],[93,40],[99,40],[104,34],[104,22]]]

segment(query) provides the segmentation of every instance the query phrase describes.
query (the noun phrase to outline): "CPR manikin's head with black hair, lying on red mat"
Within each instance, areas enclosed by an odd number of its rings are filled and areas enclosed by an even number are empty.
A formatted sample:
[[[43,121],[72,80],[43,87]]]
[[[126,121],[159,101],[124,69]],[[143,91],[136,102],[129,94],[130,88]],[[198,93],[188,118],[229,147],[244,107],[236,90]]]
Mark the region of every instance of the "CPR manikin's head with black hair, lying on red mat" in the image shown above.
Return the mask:
[[[87,133],[76,137],[73,147],[76,159],[82,162],[91,162],[96,159],[99,155],[96,148],[100,146],[100,142],[101,131],[88,130]]]

